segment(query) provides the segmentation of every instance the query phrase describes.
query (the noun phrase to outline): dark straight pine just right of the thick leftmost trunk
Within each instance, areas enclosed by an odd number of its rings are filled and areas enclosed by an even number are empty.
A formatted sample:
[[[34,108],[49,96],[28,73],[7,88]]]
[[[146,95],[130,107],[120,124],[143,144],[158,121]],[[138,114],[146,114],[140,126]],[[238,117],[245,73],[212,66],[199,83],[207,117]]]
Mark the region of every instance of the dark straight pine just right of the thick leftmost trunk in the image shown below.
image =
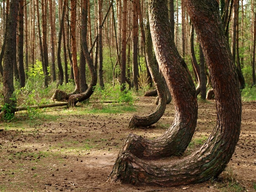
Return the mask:
[[[23,43],[24,43],[24,0],[19,0],[19,80],[20,87],[25,86],[25,71],[23,61]]]

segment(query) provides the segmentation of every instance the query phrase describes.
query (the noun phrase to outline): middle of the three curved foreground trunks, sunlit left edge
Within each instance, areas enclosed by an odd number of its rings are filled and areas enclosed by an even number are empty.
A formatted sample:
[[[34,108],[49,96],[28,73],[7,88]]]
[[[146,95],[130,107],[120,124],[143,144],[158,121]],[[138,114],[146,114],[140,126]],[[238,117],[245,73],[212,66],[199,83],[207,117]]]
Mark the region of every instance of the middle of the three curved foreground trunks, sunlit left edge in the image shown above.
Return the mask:
[[[164,9],[165,5],[160,3],[160,15],[151,16],[150,31],[158,65],[173,98],[174,122],[156,140],[145,140],[134,134],[126,137],[121,151],[128,151],[139,158],[158,158],[183,153],[191,141],[197,124],[195,85],[173,39],[169,38],[172,34],[168,14],[163,17],[164,13],[162,13],[167,11]]]

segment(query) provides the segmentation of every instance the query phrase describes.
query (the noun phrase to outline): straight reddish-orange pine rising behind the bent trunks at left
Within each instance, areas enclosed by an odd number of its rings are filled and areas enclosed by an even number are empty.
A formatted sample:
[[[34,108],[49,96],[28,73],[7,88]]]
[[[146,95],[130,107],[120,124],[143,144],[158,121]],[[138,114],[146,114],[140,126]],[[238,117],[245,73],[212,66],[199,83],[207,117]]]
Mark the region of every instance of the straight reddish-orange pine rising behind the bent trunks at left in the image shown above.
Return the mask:
[[[79,85],[79,74],[78,74],[78,65],[77,65],[77,54],[76,54],[76,0],[71,0],[71,19],[70,19],[70,32],[71,32],[71,50],[72,50],[72,65],[74,72],[74,80],[76,88],[74,93],[80,92]]]

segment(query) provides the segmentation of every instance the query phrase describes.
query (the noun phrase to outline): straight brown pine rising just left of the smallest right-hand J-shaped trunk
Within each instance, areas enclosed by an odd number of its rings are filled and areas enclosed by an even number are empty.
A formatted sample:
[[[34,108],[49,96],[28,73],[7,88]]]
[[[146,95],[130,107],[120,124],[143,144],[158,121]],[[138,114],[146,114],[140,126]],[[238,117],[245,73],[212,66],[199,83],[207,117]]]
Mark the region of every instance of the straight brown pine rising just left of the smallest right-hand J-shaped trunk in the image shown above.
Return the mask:
[[[132,1],[132,77],[135,90],[139,89],[138,85],[138,76],[139,76],[139,67],[138,67],[138,7],[139,0]]]

